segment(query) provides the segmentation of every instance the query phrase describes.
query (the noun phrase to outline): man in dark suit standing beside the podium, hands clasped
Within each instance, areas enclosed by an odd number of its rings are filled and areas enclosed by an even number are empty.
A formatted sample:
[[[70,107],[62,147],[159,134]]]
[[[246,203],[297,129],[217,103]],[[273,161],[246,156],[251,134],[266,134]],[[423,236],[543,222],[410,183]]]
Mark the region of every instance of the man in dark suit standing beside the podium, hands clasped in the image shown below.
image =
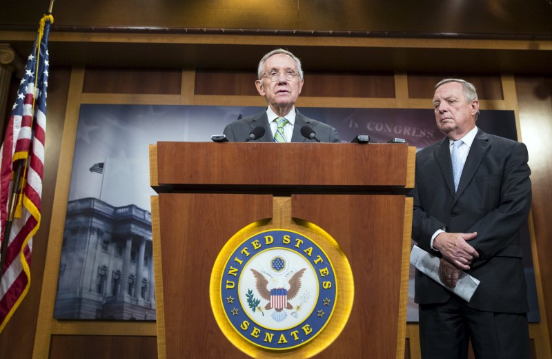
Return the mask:
[[[469,82],[440,81],[433,106],[446,137],[416,155],[412,237],[440,257],[446,287],[462,272],[481,282],[465,302],[416,271],[422,357],[467,358],[471,341],[476,358],[529,358],[519,235],[531,207],[527,148],[475,126]]]

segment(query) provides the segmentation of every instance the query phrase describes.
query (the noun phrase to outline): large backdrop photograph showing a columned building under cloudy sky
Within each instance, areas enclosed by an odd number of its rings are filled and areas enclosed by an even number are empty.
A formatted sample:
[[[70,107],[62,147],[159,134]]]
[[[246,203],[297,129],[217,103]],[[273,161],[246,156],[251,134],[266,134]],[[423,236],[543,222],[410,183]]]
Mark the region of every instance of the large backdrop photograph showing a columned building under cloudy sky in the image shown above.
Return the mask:
[[[211,135],[259,107],[81,105],[55,318],[155,320],[155,282],[148,145],[161,141],[210,142]],[[342,142],[368,135],[370,143],[402,138],[417,150],[442,139],[433,110],[300,108],[337,129]],[[477,126],[517,139],[511,110],[482,110]],[[367,144],[369,146],[370,144]],[[360,145],[359,145],[360,146]],[[363,238],[362,240],[392,240]],[[524,228],[524,263],[531,322],[539,321],[535,279]],[[362,283],[357,283],[362,287]],[[409,322],[417,322],[409,278]]]

